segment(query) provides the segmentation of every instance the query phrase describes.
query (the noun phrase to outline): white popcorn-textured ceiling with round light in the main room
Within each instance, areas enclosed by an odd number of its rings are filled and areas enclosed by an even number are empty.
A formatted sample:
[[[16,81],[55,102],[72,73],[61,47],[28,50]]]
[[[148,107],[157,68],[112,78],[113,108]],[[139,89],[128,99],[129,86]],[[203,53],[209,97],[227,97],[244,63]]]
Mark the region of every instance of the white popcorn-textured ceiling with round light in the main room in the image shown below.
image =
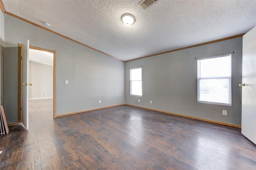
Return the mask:
[[[246,33],[256,25],[256,0],[2,0],[16,16],[123,61]],[[126,26],[124,13],[136,22]],[[44,26],[45,27],[45,26]]]

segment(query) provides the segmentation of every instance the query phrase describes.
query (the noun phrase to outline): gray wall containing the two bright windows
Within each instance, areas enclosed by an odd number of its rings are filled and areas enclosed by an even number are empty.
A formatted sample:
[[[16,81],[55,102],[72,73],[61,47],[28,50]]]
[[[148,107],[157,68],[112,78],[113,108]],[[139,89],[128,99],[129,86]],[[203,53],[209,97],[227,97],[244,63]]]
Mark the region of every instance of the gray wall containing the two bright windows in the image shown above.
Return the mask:
[[[197,61],[195,57],[199,59],[229,53],[232,53],[232,106],[197,103]],[[130,96],[129,68],[141,65],[143,65],[143,96]],[[241,82],[242,37],[125,64],[127,104],[235,125],[241,125],[242,90],[238,86]],[[227,116],[222,115],[222,110],[227,110]]]

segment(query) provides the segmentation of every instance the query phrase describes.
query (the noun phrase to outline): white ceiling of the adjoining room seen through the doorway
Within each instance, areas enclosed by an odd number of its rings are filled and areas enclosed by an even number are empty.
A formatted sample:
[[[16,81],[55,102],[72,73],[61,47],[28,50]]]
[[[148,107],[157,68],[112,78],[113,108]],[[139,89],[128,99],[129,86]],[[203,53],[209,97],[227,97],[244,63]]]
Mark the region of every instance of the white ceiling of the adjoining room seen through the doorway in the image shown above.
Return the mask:
[[[53,56],[54,54],[51,52],[29,49],[28,59],[36,63],[53,66]]]

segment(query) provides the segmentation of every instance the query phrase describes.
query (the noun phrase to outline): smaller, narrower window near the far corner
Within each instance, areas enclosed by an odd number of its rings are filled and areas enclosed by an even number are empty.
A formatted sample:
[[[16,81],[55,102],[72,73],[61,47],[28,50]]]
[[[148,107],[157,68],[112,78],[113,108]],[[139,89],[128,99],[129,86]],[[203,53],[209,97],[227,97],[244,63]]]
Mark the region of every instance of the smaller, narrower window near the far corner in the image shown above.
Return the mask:
[[[142,96],[142,68],[130,69],[130,95]]]

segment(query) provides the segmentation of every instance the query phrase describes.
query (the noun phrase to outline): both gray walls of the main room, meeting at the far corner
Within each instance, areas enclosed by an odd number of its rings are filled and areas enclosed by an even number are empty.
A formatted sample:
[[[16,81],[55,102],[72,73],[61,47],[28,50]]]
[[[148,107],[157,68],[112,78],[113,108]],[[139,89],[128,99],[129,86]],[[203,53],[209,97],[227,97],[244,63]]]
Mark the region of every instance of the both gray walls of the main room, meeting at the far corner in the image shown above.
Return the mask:
[[[58,115],[127,103],[241,125],[242,92],[237,84],[242,81],[242,37],[124,64],[6,14],[4,18],[4,85],[8,86],[4,86],[4,106],[8,123],[17,121],[17,45],[30,39],[30,45],[57,51]],[[232,106],[197,103],[194,58],[228,53],[232,53]],[[143,96],[130,96],[128,68],[140,65]],[[228,111],[227,116],[222,115],[223,109]]]

